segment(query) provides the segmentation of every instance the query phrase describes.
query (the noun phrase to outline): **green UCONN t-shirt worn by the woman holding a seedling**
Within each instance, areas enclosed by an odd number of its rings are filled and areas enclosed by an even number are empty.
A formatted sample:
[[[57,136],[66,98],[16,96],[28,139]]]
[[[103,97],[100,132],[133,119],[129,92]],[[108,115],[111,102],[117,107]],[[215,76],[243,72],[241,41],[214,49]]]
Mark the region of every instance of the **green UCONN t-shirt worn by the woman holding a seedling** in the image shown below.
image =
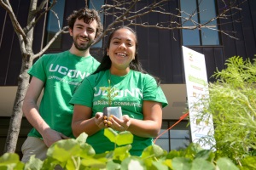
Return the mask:
[[[111,75],[108,71],[101,71],[95,75],[84,78],[76,93],[71,99],[71,104],[85,105],[92,109],[92,117],[96,112],[102,112],[108,106],[107,92],[101,87],[111,86],[116,89],[118,95],[113,98],[111,106],[121,106],[123,115],[143,120],[143,100],[150,100],[167,105],[166,96],[162,89],[157,86],[154,77],[138,71],[129,71],[124,77]],[[114,144],[104,136],[104,129],[91,135],[87,143],[91,144],[96,153],[103,153],[114,149]],[[152,138],[143,138],[134,135],[131,155],[140,156],[148,145],[153,144]]]

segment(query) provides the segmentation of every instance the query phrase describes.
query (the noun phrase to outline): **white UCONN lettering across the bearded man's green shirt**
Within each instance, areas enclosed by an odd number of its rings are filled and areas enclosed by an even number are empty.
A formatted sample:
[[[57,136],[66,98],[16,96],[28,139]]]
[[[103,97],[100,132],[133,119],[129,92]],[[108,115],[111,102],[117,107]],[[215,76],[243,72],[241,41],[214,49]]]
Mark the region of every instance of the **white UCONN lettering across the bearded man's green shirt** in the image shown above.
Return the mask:
[[[84,77],[88,77],[90,75],[90,73],[76,71],[76,70],[69,70],[65,66],[54,65],[54,64],[51,64],[49,66],[49,71],[51,71],[51,72],[59,72],[60,74],[67,75],[67,77],[71,77],[71,78],[81,77],[82,79],[84,79]]]

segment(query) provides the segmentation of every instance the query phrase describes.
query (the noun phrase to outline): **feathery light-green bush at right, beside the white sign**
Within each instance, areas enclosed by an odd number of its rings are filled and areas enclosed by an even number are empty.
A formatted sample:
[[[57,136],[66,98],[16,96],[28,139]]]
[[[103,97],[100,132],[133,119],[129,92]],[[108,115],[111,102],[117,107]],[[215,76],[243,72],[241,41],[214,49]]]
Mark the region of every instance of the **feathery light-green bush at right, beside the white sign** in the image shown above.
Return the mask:
[[[235,56],[225,65],[213,75],[217,81],[209,84],[209,98],[201,101],[208,105],[202,116],[213,117],[216,156],[248,165],[241,160],[255,156],[256,150],[256,63]]]

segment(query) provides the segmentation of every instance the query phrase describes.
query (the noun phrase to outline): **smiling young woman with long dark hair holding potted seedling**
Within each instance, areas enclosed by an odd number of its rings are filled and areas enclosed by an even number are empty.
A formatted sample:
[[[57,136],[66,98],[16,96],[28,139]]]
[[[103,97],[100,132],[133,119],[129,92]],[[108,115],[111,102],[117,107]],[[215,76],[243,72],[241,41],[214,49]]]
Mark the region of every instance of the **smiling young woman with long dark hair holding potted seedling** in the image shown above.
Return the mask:
[[[102,87],[108,87],[109,82],[117,94],[111,106],[120,106],[123,116],[110,116],[107,122],[102,111],[108,106],[108,98]],[[105,127],[119,132],[127,130],[134,135],[131,155],[141,156],[160,132],[162,107],[167,105],[159,83],[143,71],[138,61],[136,32],[126,26],[117,28],[110,34],[101,65],[84,78],[70,101],[74,105],[74,136],[87,133],[86,142],[96,153],[103,153],[114,149],[103,134]]]

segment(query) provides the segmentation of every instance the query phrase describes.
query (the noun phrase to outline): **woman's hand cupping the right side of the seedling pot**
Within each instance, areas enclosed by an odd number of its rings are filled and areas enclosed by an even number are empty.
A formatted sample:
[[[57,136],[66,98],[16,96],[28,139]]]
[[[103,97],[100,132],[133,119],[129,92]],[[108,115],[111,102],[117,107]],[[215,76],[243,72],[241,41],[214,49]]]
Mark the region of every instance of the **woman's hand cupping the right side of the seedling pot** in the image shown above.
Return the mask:
[[[113,128],[113,130],[123,132],[128,129],[131,125],[131,118],[128,115],[124,115],[123,119],[119,119],[116,116],[108,117],[108,127]]]

